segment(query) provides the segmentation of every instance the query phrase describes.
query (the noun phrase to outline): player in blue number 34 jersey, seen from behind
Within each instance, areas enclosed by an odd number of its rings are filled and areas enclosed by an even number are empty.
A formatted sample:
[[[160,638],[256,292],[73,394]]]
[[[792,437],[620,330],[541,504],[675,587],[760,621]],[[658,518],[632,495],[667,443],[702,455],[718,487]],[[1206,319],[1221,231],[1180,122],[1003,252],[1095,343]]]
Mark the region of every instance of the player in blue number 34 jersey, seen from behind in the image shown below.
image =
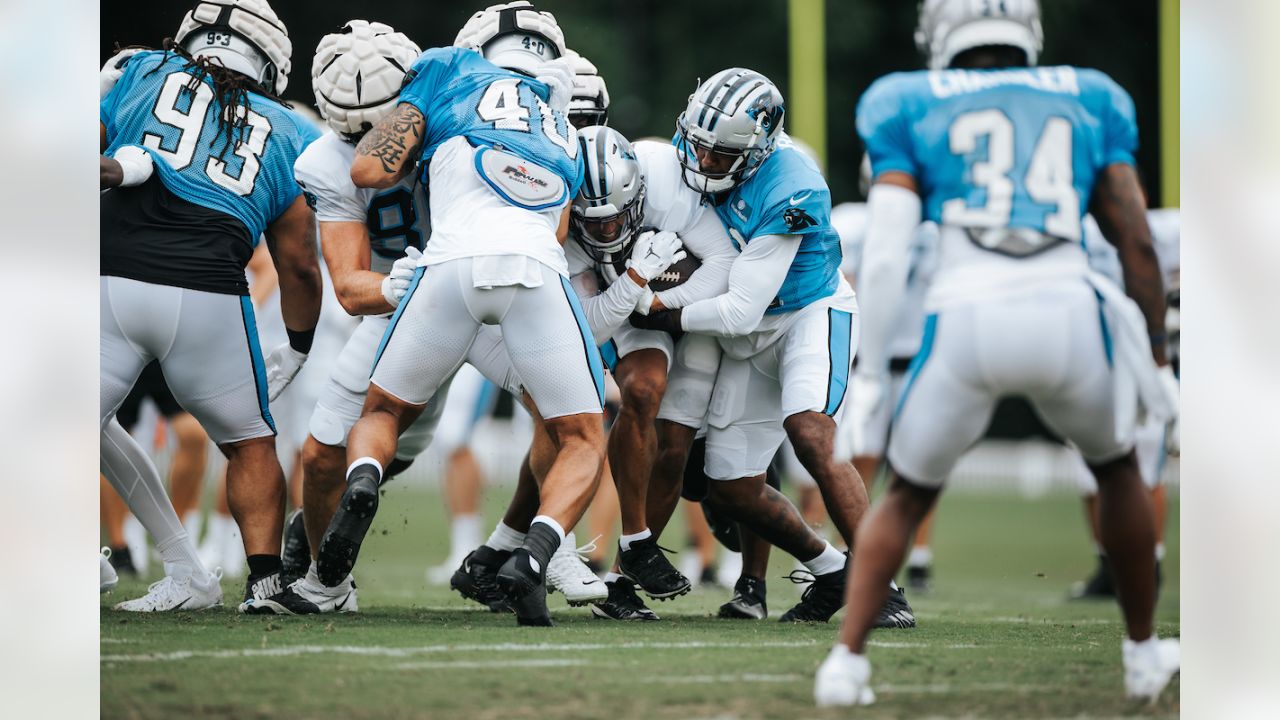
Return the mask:
[[[1165,297],[1133,165],[1133,101],[1101,72],[1036,67],[1034,0],[927,0],[916,37],[931,70],[881,78],[858,105],[874,177],[859,288],[868,370],[888,369],[908,247],[924,219],[940,225],[938,270],[922,348],[896,402],[891,487],[854,547],[849,609],[815,700],[874,701],[863,652],[884,583],[1005,395],[1027,397],[1097,478],[1102,543],[1128,629],[1125,692],[1155,700],[1178,671],[1179,651],[1155,634],[1156,532],[1133,425],[1117,420],[1116,379],[1137,383],[1148,409],[1171,411],[1171,400],[1156,370],[1166,364]],[[1087,209],[1116,246],[1138,307],[1089,274]]]

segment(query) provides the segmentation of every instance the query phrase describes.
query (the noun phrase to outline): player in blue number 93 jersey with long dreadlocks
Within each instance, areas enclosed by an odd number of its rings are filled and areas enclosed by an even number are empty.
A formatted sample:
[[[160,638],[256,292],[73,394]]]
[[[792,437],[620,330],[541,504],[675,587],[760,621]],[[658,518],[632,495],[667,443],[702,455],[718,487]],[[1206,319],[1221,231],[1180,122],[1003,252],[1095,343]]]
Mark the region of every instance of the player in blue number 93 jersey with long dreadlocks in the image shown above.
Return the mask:
[[[101,101],[102,473],[156,541],[165,578],[123,610],[220,603],[155,466],[115,421],[142,368],[228,457],[248,601],[282,592],[284,477],[268,402],[306,360],[320,310],[315,217],[293,161],[315,137],[280,101],[291,44],[265,0],[202,0],[164,51],[109,63]],[[104,87],[106,85],[104,78]],[[264,359],[244,264],[266,234],[288,343]]]

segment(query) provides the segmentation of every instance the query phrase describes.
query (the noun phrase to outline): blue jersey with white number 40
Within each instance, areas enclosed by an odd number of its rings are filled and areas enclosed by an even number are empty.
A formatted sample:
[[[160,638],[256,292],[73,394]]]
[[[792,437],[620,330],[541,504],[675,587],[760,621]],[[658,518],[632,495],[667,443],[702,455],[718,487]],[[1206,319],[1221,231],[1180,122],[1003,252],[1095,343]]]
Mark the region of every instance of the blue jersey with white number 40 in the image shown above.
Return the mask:
[[[563,113],[547,105],[549,88],[536,79],[504,70],[474,50],[435,47],[413,61],[401,102],[426,118],[421,172],[435,149],[453,137],[489,146],[552,170],[570,197],[582,183],[577,138]]]

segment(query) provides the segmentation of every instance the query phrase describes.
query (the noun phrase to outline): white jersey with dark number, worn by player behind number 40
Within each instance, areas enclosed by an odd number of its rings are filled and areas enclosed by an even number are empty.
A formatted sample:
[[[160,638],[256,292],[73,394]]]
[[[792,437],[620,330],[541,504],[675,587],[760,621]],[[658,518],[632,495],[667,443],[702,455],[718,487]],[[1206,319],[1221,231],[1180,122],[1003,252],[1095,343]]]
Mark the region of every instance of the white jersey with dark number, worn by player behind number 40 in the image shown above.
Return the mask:
[[[293,174],[321,223],[365,223],[370,270],[388,273],[406,247],[422,250],[431,234],[426,191],[419,173],[385,190],[356,187],[351,163],[356,146],[333,132],[312,142],[293,164]]]

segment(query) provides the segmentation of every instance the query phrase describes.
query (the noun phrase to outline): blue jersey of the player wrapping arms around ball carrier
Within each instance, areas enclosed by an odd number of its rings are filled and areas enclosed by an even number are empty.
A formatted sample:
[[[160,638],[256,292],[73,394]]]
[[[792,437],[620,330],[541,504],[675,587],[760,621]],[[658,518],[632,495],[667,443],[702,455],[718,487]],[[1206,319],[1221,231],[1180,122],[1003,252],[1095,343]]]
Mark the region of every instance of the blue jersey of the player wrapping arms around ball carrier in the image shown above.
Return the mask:
[[[673,142],[680,146],[678,135]],[[831,190],[818,165],[787,136],[714,209],[739,250],[765,234],[800,236],[800,250],[765,315],[799,310],[836,293],[841,252],[840,234],[831,227]]]

